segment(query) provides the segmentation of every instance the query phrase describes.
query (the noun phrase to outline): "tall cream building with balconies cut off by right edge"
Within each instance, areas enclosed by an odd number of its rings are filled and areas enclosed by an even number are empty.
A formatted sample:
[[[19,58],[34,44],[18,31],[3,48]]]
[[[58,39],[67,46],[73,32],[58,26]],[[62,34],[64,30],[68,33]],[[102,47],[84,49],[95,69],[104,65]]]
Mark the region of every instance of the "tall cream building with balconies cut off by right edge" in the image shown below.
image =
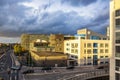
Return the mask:
[[[120,80],[120,0],[110,1],[110,80]]]

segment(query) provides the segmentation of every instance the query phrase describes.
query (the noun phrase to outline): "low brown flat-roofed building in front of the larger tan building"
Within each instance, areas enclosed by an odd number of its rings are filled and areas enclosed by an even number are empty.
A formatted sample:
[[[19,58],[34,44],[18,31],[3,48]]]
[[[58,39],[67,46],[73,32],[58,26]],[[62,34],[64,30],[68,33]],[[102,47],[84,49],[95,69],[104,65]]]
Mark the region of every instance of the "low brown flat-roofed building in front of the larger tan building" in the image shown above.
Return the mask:
[[[53,50],[46,40],[37,39],[30,43],[30,53],[37,66],[66,66],[67,55]]]

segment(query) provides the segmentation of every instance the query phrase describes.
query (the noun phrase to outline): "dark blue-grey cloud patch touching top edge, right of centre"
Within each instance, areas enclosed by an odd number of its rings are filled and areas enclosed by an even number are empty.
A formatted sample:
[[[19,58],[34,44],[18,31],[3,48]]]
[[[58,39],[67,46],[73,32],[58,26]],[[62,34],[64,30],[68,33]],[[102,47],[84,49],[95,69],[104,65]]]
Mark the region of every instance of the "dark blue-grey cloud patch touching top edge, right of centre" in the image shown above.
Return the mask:
[[[91,3],[96,2],[97,0],[62,0],[62,3],[67,3],[72,6],[87,6]]]

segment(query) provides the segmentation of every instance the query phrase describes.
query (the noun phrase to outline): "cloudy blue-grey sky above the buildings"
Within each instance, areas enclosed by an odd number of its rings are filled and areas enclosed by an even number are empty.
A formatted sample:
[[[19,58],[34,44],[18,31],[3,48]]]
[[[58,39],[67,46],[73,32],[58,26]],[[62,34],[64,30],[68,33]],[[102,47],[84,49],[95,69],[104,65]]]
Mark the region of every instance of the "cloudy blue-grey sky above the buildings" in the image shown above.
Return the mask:
[[[109,0],[0,0],[0,42],[23,33],[76,34],[88,28],[105,34]]]

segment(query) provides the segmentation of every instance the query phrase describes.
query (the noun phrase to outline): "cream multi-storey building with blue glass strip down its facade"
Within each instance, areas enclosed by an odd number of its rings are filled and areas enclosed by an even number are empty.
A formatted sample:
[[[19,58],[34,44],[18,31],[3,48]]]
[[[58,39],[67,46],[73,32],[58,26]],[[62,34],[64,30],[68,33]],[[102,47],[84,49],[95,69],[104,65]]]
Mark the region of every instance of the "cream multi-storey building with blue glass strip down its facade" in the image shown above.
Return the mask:
[[[77,31],[73,40],[64,41],[64,53],[78,65],[98,65],[109,63],[109,40],[105,35],[88,29]],[[70,63],[75,65],[76,63]]]

